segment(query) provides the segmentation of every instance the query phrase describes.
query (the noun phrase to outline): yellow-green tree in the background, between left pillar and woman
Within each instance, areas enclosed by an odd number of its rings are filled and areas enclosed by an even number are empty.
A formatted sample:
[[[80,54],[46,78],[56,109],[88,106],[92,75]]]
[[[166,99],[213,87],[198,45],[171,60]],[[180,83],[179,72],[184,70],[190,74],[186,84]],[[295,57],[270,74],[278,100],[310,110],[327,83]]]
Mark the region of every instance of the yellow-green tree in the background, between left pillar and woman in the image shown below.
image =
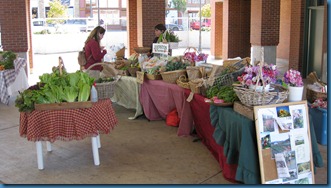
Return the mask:
[[[56,18],[47,20],[48,24],[62,24],[64,23],[64,19],[68,17],[68,7],[61,4],[60,0],[54,0],[53,2],[49,2],[49,11],[47,13],[48,18]]]

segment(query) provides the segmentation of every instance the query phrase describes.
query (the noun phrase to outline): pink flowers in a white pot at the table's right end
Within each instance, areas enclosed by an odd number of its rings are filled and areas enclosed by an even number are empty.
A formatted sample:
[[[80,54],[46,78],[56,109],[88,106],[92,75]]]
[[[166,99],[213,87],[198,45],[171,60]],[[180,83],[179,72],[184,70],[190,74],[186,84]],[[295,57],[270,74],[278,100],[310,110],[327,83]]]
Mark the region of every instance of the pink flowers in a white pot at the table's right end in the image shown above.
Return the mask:
[[[297,70],[289,69],[284,73],[283,82],[289,90],[288,101],[295,102],[302,100],[303,82],[301,73]]]

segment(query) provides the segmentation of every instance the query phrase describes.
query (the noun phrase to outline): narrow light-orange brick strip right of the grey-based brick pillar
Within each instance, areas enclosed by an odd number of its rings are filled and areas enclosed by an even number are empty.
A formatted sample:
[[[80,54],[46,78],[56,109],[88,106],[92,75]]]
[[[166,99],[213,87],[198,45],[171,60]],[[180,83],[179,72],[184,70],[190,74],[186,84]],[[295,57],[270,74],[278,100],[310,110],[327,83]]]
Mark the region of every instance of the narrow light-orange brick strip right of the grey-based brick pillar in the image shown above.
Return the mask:
[[[277,58],[288,59],[290,47],[291,31],[291,1],[281,0],[280,2],[280,27],[279,27],[279,44],[277,46]]]

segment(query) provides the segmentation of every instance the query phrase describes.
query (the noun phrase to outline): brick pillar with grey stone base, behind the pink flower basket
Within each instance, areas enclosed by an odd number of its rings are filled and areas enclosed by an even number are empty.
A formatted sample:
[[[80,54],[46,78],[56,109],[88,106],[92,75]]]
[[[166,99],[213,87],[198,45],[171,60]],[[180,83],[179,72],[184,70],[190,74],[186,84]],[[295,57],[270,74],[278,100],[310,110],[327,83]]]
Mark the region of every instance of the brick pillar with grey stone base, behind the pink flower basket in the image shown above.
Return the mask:
[[[252,60],[261,61],[261,48],[263,47],[264,61],[276,64],[280,0],[254,0],[251,2]]]

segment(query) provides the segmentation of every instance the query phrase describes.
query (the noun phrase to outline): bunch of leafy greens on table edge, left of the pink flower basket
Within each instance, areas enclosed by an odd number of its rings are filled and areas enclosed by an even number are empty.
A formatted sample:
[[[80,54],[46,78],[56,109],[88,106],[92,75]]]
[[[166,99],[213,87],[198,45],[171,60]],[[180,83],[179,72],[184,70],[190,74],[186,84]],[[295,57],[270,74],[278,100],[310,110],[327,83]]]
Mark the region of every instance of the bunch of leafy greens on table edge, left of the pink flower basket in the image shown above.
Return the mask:
[[[217,97],[223,99],[224,102],[234,102],[239,100],[236,92],[233,90],[233,86],[212,86],[207,89],[207,98]]]

